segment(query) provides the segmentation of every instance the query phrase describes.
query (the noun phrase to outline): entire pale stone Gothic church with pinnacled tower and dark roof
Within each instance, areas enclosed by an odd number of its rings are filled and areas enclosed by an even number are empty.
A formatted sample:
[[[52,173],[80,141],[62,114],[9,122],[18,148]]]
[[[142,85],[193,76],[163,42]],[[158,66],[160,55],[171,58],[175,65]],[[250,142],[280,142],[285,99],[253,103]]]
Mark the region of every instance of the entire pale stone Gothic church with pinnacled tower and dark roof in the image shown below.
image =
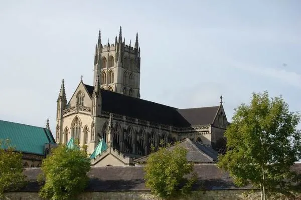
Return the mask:
[[[81,79],[67,101],[62,80],[56,142],[78,140],[87,146],[95,166],[131,165],[134,158],[148,155],[151,146],[158,148],[186,138],[219,150],[225,145],[228,121],[222,97],[214,104],[179,109],[141,99],[138,34],[133,47],[126,45],[120,27],[115,43],[102,45],[99,31],[93,84]]]

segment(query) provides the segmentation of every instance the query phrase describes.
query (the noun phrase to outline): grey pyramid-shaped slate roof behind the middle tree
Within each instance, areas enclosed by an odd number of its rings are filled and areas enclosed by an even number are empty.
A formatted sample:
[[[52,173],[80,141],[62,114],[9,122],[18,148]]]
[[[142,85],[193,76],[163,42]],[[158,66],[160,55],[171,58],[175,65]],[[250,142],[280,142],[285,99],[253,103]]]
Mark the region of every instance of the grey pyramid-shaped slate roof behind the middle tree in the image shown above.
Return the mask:
[[[173,150],[177,144],[168,147],[167,149]],[[187,151],[187,160],[189,162],[201,163],[201,162],[217,162],[218,152],[212,149],[210,146],[200,144],[198,142],[193,142],[189,138],[181,141],[180,146],[185,147]],[[135,159],[136,163],[145,163],[147,161],[148,155]]]

